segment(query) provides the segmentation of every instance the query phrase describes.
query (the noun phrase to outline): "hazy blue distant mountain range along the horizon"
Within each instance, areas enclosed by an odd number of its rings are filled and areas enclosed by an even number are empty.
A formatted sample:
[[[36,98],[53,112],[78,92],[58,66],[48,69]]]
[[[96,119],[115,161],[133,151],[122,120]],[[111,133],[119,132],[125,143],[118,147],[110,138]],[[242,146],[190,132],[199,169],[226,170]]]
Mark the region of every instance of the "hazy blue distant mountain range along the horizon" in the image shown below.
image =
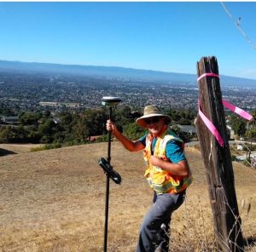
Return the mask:
[[[177,72],[160,72],[152,70],[125,68],[117,66],[80,66],[52,63],[27,63],[0,60],[0,72],[24,72],[79,75],[84,77],[128,78],[140,81],[160,81],[168,83],[196,83],[196,75]],[[221,75],[221,84],[256,88],[256,80]]]

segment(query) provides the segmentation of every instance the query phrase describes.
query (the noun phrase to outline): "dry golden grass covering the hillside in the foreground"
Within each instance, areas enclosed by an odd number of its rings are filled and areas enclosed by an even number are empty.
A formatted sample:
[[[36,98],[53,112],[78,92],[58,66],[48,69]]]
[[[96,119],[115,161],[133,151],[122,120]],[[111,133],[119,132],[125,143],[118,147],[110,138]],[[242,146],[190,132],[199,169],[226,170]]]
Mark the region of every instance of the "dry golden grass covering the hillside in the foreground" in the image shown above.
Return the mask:
[[[19,150],[21,148],[21,151]],[[0,145],[17,155],[1,157],[0,251],[102,251],[105,175],[97,160],[107,144],[27,152]],[[194,174],[183,206],[172,218],[172,251],[215,251],[212,211],[201,153],[187,148]],[[113,142],[112,163],[122,185],[111,181],[108,251],[135,250],[137,232],[152,192],[143,178],[142,153]],[[236,196],[245,238],[256,238],[255,170],[234,163]],[[250,201],[251,210],[247,213]],[[251,244],[246,251],[256,251]]]

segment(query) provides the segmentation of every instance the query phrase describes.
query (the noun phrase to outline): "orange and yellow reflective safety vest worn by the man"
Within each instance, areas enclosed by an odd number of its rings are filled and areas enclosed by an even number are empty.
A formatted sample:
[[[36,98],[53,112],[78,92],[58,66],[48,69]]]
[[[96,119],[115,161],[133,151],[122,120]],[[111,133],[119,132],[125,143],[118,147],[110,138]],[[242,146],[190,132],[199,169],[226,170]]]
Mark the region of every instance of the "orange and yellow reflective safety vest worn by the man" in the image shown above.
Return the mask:
[[[193,179],[191,174],[186,177],[175,176],[168,173],[164,169],[160,169],[160,167],[152,165],[149,162],[151,156],[152,140],[152,135],[148,134],[146,138],[146,146],[143,152],[143,158],[147,165],[144,176],[147,178],[149,186],[153,188],[157,193],[183,192],[192,183]],[[157,137],[154,146],[154,156],[165,161],[168,160],[166,158],[166,144],[169,140],[177,140],[183,143],[183,140],[175,135],[172,129],[166,129],[160,137]]]

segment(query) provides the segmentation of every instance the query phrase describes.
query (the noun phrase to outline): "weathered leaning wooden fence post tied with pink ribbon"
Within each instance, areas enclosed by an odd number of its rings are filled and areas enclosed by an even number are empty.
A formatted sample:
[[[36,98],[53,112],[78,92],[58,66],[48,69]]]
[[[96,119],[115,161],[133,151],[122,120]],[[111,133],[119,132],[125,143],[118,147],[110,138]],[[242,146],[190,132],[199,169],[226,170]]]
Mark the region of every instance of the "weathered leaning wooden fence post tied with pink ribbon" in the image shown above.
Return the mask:
[[[218,75],[215,57],[203,57],[197,62],[197,75],[212,72]],[[201,111],[218,129],[224,146],[207,129],[201,117],[195,126],[201,146],[201,153],[207,169],[207,183],[214,232],[218,251],[243,251],[241,218],[238,211],[234,173],[230,155],[224,106],[218,77],[202,77],[198,82]]]

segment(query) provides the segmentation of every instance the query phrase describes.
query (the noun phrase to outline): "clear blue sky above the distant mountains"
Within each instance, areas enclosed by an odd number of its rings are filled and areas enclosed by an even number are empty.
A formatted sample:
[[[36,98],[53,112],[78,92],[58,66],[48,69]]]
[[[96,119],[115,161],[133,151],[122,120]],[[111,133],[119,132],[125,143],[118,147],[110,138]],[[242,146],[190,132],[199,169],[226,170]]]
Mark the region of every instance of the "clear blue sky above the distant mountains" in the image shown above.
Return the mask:
[[[224,5],[244,35],[220,2],[2,2],[0,60],[196,73],[214,55],[256,79],[256,2]]]

